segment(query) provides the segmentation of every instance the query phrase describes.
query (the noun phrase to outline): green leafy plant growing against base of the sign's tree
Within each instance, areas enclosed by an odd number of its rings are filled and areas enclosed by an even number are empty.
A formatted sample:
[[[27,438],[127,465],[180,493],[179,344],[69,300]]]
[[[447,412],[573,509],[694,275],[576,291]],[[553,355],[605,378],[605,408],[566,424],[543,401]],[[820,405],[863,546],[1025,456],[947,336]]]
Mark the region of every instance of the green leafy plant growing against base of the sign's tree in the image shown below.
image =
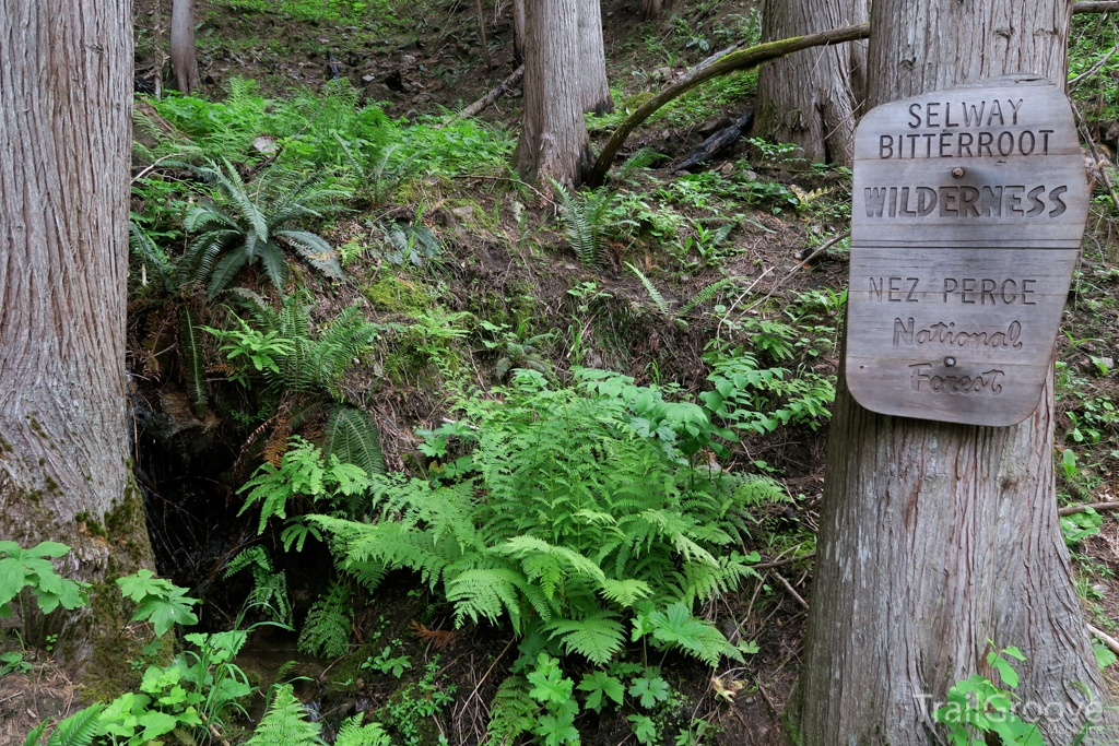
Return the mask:
[[[952,746],[985,746],[985,734],[997,735],[1003,746],[1045,746],[1037,726],[1025,723],[1013,711],[1013,690],[1018,688],[1018,673],[1003,655],[1025,661],[1017,648],[1005,648],[987,654],[987,664],[995,669],[1002,689],[981,676],[958,681],[948,690],[948,703],[933,714],[937,723],[948,726]]]

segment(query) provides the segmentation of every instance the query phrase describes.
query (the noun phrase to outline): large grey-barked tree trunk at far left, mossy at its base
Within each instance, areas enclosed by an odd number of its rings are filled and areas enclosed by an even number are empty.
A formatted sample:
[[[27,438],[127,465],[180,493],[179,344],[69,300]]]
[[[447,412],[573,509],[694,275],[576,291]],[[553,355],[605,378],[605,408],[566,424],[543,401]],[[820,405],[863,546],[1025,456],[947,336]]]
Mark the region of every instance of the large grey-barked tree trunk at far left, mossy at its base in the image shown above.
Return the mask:
[[[125,410],[131,11],[0,0],[0,538],[68,544],[60,572],[94,583],[151,564]],[[75,622],[47,620],[81,668],[106,630]]]

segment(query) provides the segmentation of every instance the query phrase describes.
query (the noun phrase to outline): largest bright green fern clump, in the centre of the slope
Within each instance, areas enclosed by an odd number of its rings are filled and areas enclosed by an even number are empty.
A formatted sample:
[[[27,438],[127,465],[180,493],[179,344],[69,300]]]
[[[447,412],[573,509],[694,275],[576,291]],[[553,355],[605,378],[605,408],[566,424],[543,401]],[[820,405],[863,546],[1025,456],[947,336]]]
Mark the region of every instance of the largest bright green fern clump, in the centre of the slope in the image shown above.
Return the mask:
[[[639,602],[648,613],[690,610],[737,587],[756,561],[733,549],[746,508],[774,488],[688,465],[685,454],[709,442],[699,407],[621,376],[575,375],[579,386],[553,390],[520,370],[504,399],[463,402],[468,426],[457,432],[469,454],[455,476],[374,478],[378,521],[313,517],[342,567],[411,568],[442,586],[458,623],[539,625],[598,663],[622,649]],[[431,453],[445,452],[433,435]],[[712,648],[679,642],[712,660]],[[725,640],[721,652],[740,655]]]

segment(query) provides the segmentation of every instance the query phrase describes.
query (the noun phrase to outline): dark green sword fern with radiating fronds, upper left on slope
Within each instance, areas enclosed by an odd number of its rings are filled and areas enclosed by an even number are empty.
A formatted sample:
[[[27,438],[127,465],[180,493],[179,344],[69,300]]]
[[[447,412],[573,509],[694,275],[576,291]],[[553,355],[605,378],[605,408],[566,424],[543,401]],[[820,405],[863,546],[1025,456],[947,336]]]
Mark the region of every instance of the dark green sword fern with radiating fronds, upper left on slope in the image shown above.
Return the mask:
[[[198,169],[213,191],[208,205],[187,213],[184,227],[196,236],[178,264],[180,272],[205,284],[213,298],[229,287],[243,267],[260,263],[283,292],[286,247],[328,277],[342,278],[335,249],[317,234],[295,226],[337,211],[332,200],[348,192],[323,188],[322,173],[298,178],[278,167],[257,177],[250,188],[228,160],[223,163],[224,169],[213,162]]]

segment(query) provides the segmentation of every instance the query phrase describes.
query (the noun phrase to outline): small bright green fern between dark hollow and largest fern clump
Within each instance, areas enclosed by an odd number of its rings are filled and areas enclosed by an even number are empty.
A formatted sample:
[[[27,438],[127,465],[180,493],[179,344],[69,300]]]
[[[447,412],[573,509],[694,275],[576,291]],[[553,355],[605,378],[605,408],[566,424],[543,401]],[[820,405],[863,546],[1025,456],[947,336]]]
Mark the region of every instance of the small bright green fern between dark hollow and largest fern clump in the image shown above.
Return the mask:
[[[359,466],[342,463],[333,454],[323,457],[319,446],[299,435],[293,435],[289,443],[279,469],[267,462],[261,464],[253,479],[237,490],[238,493],[248,492],[238,516],[261,503],[258,533],[264,532],[272,516],[288,517],[291,500],[308,498],[311,502],[332,503],[339,498],[361,494],[369,488],[369,478]]]

